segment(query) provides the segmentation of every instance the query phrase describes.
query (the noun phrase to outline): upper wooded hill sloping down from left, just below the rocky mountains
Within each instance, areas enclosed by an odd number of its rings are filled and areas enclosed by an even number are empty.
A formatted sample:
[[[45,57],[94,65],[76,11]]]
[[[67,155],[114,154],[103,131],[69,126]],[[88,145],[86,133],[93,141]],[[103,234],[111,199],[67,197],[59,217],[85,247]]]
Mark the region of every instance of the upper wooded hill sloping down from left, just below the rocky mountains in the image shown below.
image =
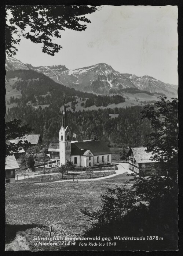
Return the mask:
[[[76,96],[88,98],[87,106],[92,106],[95,103],[96,106],[107,106],[110,103],[125,102],[122,96],[97,96],[93,93],[85,93],[68,88],[33,70],[6,72],[7,80],[15,77],[18,79],[12,85],[12,89],[21,91],[22,97],[18,99],[11,96],[10,102],[7,102],[9,104],[17,103],[18,106],[23,106],[30,101],[34,106],[53,104],[54,106],[61,107],[64,98],[67,103],[75,101],[77,99]]]

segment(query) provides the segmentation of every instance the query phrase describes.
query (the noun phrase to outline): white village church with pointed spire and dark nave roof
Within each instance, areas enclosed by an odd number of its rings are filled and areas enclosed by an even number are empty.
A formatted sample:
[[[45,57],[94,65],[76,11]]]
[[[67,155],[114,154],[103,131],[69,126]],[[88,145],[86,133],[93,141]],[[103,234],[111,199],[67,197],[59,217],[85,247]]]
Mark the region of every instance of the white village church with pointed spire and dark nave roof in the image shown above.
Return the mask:
[[[64,102],[62,126],[59,131],[59,143],[50,143],[48,151],[51,158],[59,159],[60,166],[67,160],[76,167],[89,167],[111,164],[111,152],[105,141],[71,141],[66,106]]]

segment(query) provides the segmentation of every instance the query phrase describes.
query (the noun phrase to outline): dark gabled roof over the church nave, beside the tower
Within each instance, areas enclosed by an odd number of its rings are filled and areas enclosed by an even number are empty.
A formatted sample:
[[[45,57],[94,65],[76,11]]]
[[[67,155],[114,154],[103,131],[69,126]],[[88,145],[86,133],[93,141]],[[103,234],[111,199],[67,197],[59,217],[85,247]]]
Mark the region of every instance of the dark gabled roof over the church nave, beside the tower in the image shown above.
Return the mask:
[[[111,154],[105,141],[85,141],[71,144],[71,154],[83,156],[91,151],[94,156],[101,154]],[[85,153],[87,151],[87,153]]]

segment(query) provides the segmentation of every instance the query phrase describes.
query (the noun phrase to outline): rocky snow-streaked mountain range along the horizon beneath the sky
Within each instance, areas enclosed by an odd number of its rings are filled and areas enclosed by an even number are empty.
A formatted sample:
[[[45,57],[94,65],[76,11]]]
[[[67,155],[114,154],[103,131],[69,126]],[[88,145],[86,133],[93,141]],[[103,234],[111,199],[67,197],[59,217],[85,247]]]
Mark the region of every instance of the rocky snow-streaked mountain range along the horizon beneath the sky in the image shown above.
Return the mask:
[[[134,88],[150,93],[158,92],[176,96],[178,88],[177,85],[161,82],[148,75],[138,77],[133,74],[121,74],[106,63],[69,70],[65,65],[33,67],[13,57],[7,57],[6,68],[7,70],[34,70],[70,88],[100,94],[121,93],[124,89]]]

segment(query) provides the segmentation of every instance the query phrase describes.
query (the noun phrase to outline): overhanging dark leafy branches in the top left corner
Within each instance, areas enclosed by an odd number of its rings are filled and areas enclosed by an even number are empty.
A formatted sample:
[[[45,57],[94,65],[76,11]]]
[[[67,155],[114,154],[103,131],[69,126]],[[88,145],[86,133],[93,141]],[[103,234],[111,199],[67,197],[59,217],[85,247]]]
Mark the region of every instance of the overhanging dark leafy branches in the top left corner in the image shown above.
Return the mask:
[[[62,46],[54,43],[61,31],[84,31],[91,21],[84,15],[96,11],[95,6],[7,6],[6,53],[17,52],[21,36],[33,43],[43,43],[43,53],[54,56]]]

